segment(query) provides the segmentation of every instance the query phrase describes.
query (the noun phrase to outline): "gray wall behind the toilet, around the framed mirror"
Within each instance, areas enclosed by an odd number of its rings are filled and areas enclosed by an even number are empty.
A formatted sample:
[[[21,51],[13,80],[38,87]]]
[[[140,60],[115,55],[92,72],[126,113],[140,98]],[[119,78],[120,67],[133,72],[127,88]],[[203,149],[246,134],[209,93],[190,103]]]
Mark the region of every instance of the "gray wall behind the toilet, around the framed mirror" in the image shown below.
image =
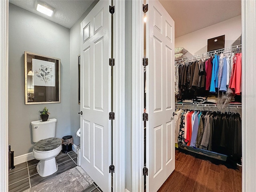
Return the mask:
[[[68,28],[9,6],[9,144],[19,156],[32,152],[30,122],[40,120],[44,106],[57,119],[56,136],[70,134],[70,41]],[[25,105],[24,51],[60,58],[61,103]]]

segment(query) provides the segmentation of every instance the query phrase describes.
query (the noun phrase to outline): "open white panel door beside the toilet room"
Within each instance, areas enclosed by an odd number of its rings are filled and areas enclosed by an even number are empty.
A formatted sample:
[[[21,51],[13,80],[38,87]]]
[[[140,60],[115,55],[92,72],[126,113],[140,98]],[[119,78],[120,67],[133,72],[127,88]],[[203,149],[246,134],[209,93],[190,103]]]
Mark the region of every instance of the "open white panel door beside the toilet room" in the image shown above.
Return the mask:
[[[81,166],[103,191],[111,187],[109,5],[100,0],[81,22]]]

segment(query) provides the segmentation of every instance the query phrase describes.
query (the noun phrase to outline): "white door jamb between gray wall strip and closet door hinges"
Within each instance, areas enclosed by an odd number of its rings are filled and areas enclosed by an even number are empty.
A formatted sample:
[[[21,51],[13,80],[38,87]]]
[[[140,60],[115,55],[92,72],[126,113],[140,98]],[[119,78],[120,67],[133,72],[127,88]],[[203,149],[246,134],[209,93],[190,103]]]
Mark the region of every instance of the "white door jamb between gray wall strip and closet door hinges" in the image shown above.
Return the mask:
[[[132,191],[144,191],[144,23],[143,0],[132,1]]]

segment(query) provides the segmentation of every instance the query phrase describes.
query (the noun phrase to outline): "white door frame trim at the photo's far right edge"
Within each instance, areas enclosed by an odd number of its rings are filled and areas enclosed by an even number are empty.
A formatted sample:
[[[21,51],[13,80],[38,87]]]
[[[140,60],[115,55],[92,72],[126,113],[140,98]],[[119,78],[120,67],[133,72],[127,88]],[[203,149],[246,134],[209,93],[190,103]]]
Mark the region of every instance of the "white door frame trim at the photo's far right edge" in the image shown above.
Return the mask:
[[[242,191],[255,191],[256,0],[242,0]],[[252,83],[253,82],[253,83]]]

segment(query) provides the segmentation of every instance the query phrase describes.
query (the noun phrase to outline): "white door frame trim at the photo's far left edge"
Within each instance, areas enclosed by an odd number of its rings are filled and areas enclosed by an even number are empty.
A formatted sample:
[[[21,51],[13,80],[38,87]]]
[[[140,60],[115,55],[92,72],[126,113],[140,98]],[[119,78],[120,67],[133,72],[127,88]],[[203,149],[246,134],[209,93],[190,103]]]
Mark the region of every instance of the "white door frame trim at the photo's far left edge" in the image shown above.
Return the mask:
[[[8,191],[8,0],[0,1],[0,191]]]

